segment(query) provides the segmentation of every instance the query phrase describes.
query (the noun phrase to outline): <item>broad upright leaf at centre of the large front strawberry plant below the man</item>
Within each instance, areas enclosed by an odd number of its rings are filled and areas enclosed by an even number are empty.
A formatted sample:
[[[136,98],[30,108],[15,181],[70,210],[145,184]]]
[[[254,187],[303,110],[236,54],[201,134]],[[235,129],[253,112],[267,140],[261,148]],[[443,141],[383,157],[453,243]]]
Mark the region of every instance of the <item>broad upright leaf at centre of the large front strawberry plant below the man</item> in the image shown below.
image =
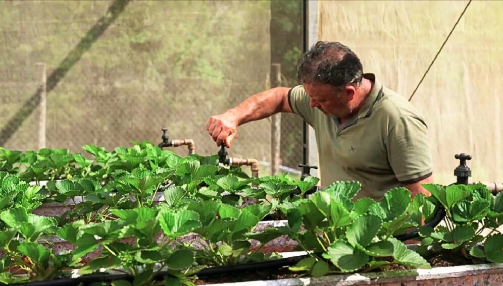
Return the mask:
[[[360,216],[347,227],[346,238],[353,247],[368,246],[381,229],[381,219],[375,215]]]

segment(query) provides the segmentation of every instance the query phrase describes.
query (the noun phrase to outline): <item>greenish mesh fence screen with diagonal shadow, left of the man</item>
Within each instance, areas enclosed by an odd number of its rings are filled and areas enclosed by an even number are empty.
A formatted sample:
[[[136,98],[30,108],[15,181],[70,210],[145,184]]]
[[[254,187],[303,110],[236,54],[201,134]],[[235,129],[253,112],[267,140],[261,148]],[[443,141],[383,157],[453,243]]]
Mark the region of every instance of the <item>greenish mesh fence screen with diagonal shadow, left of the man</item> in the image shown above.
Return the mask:
[[[0,146],[111,150],[166,127],[216,154],[207,120],[270,87],[270,20],[256,1],[0,2]],[[302,159],[299,130],[283,115],[285,166]],[[229,155],[267,165],[270,120],[240,127]]]

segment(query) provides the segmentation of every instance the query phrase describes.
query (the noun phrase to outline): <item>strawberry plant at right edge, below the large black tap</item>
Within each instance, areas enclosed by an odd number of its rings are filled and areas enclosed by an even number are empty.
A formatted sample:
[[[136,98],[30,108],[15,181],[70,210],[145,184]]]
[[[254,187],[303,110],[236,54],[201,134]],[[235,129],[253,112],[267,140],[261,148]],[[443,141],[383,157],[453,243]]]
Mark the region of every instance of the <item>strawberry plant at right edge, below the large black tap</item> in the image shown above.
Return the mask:
[[[503,193],[493,196],[482,184],[424,187],[443,205],[446,216],[443,226],[420,228],[423,245],[437,246],[466,258],[503,262],[503,240],[497,230],[503,224]],[[486,235],[484,231],[488,231]],[[478,245],[484,240],[483,247]]]

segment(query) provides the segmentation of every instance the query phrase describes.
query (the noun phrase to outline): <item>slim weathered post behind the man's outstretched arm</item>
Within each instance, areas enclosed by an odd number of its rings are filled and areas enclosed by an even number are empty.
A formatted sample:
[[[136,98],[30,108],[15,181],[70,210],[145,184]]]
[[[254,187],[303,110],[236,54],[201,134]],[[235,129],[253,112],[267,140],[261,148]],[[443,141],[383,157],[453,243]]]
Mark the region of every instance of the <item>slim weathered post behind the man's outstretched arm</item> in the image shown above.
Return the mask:
[[[271,64],[271,88],[281,86],[281,64]],[[279,174],[281,113],[271,117],[271,175]]]

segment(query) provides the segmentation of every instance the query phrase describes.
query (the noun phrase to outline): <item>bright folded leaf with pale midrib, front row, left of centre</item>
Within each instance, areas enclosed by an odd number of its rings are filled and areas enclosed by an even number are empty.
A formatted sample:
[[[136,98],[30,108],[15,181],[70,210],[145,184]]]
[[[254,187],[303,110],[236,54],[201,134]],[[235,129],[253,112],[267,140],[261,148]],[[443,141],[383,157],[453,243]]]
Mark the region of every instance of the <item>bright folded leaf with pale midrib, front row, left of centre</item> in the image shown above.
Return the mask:
[[[159,223],[164,233],[171,239],[186,235],[201,226],[199,214],[192,210],[174,211],[162,209]]]

